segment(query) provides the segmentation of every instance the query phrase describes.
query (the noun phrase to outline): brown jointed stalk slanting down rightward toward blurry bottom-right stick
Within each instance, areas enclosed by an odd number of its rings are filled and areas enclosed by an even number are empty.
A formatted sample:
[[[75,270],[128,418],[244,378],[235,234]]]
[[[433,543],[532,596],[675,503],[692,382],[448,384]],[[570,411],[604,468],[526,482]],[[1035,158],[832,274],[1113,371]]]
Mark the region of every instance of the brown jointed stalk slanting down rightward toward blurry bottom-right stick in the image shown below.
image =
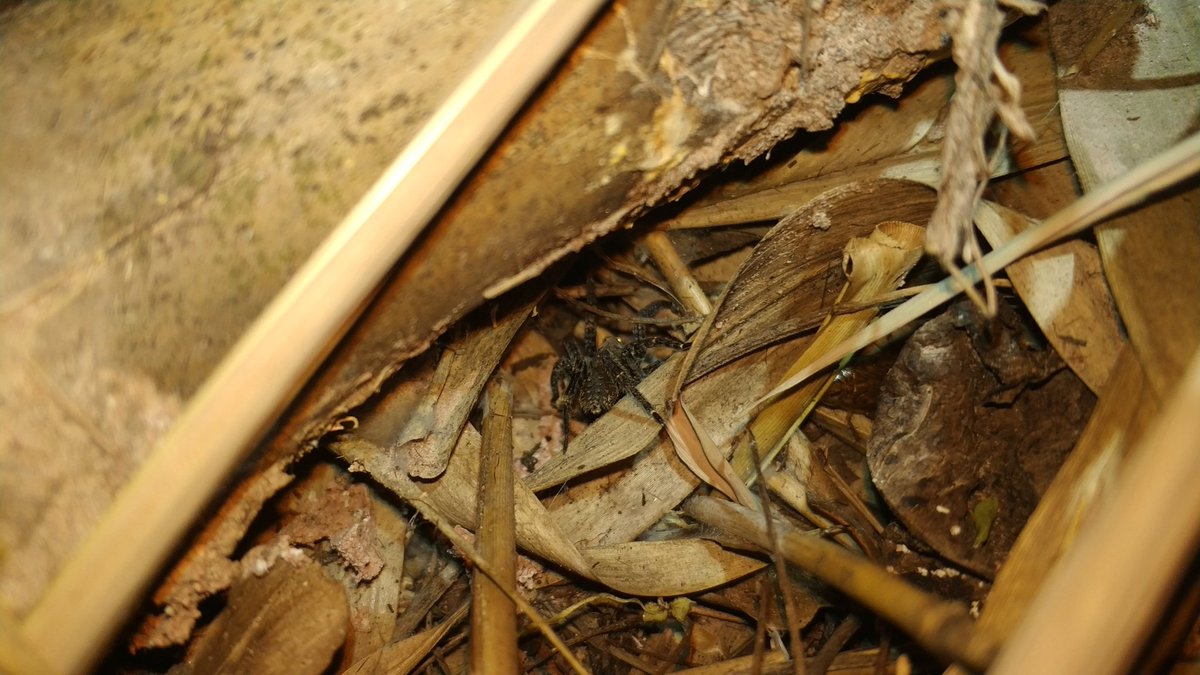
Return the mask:
[[[689,502],[688,512],[730,536],[770,550],[763,516],[744,507],[709,497]],[[966,608],[919,591],[865,558],[818,536],[774,522],[788,562],[863,603],[908,633],[930,653],[984,670],[996,643],[974,629]]]

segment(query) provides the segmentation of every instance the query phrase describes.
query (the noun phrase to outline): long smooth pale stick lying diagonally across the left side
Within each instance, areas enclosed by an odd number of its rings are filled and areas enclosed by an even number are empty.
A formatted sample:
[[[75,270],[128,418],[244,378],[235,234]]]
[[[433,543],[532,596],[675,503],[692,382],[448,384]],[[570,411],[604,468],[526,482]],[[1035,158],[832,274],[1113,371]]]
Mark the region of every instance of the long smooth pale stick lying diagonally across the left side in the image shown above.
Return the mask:
[[[52,667],[96,661],[230,471],[571,44],[599,0],[535,0],[209,376],[25,622]]]

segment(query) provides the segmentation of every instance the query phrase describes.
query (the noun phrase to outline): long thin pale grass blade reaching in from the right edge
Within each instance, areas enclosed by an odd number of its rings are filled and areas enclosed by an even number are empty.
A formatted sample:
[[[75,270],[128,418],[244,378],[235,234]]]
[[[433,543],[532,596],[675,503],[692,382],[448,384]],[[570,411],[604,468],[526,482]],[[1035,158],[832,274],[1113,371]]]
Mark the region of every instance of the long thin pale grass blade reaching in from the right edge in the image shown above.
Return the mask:
[[[984,256],[982,263],[989,270],[1003,269],[1014,261],[1052,241],[1091,227],[1100,220],[1141,202],[1159,190],[1164,190],[1193,175],[1198,171],[1200,171],[1200,133],[1190,136],[1170,150],[1139,165],[1126,175],[1088,192],[1072,203],[1072,205],[1043,221],[1038,227],[1018,234],[1000,249]],[[962,276],[972,283],[980,280],[979,269],[976,265],[964,269]],[[958,295],[960,291],[961,286],[953,279],[942,280],[929,291],[892,310],[853,338],[828,351],[824,357],[817,359],[794,376],[788,377],[758,402],[768,401],[792,389],[821,370],[838,363],[847,354],[854,353],[876,340],[887,338],[925,312],[941,306],[950,298]]]

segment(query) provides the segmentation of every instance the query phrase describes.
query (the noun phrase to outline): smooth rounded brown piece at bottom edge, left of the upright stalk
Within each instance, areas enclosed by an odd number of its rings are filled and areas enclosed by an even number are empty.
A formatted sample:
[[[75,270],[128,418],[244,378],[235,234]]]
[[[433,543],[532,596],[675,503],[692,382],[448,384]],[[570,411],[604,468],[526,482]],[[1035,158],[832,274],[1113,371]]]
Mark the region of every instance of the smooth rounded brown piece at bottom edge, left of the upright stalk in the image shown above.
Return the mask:
[[[346,639],[346,592],[314,562],[277,563],[234,585],[179,675],[324,673]]]

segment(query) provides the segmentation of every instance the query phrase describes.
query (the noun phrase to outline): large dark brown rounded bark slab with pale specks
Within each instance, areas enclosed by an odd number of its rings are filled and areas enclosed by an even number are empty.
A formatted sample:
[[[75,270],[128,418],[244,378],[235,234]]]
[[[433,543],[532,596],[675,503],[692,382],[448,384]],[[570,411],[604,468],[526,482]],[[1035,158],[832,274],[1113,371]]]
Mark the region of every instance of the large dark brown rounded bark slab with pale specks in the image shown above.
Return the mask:
[[[1094,396],[1027,344],[1012,310],[980,318],[960,301],[913,334],[884,380],[868,461],[913,534],[990,579]]]

